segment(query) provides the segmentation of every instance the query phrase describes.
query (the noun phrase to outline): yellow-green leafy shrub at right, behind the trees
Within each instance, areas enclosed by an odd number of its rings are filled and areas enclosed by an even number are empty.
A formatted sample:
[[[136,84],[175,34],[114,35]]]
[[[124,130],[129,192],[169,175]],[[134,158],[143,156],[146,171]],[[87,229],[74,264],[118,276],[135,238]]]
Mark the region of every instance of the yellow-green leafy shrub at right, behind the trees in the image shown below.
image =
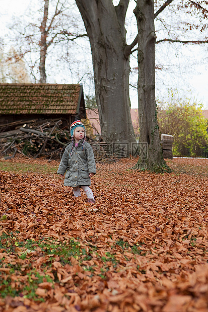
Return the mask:
[[[208,152],[208,122],[202,115],[202,105],[190,102],[172,97],[168,105],[159,105],[159,130],[174,136],[174,155],[204,157]]]

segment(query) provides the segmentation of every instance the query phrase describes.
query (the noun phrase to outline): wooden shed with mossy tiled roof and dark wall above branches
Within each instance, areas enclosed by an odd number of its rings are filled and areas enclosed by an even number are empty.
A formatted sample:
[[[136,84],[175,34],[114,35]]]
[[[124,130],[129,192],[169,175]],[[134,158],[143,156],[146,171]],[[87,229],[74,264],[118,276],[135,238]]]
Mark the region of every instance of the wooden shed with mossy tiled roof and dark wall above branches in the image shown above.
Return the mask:
[[[0,84],[0,125],[55,118],[63,126],[86,118],[82,85]]]

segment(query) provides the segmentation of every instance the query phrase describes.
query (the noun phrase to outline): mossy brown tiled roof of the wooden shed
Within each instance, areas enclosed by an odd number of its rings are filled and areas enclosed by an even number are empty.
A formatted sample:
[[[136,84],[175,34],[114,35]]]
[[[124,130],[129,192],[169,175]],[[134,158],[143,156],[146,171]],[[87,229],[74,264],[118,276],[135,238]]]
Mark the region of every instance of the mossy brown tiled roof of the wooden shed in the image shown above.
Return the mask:
[[[0,84],[0,114],[77,114],[82,85]]]

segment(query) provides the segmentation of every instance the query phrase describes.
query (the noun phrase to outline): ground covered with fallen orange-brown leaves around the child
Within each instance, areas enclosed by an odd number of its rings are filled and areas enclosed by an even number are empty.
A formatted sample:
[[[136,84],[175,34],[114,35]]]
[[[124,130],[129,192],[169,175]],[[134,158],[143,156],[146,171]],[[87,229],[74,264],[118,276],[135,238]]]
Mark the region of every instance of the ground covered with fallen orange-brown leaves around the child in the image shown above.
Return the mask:
[[[58,162],[1,162],[0,311],[208,311],[208,160],[135,162],[98,165],[96,204]]]

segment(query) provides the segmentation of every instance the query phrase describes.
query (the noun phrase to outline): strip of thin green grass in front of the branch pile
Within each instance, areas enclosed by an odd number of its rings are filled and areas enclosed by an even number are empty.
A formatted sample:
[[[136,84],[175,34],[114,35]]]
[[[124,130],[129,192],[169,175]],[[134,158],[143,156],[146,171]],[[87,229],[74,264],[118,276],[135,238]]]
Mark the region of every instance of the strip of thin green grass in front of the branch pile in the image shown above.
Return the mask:
[[[0,162],[0,169],[12,173],[55,174],[58,167],[53,167],[50,164],[40,165]]]

